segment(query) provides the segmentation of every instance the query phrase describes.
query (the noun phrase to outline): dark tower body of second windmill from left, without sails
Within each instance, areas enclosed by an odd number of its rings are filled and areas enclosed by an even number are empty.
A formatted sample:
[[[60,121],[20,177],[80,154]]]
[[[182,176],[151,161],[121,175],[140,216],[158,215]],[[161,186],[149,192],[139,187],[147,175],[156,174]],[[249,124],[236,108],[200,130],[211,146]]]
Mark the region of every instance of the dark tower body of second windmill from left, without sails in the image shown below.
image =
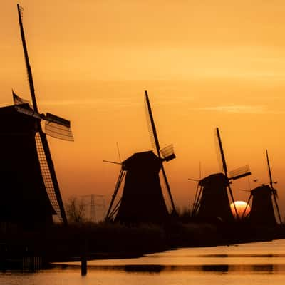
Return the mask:
[[[162,161],[152,152],[138,152],[122,162],[125,183],[115,221],[164,222],[168,217],[159,172]]]

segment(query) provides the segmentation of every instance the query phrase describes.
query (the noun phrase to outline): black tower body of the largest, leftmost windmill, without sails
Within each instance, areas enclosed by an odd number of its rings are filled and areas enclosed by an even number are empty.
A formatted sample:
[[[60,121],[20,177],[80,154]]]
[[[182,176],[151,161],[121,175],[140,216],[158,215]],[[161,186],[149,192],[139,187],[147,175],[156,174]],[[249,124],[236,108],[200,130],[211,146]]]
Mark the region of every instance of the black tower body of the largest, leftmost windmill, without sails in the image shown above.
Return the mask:
[[[21,105],[31,110],[28,104]],[[36,147],[39,121],[15,105],[0,108],[0,221],[39,227],[51,224],[53,209]]]

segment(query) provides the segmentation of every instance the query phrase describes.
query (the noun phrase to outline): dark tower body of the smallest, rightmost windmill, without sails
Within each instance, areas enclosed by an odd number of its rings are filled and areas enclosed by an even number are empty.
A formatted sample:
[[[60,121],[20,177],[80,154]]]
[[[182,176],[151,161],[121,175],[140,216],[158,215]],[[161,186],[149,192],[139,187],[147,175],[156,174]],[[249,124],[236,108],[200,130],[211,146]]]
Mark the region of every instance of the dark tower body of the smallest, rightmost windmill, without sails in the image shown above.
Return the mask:
[[[252,224],[274,226],[276,218],[272,203],[272,190],[269,185],[261,185],[251,191],[252,207],[249,214],[249,221]]]

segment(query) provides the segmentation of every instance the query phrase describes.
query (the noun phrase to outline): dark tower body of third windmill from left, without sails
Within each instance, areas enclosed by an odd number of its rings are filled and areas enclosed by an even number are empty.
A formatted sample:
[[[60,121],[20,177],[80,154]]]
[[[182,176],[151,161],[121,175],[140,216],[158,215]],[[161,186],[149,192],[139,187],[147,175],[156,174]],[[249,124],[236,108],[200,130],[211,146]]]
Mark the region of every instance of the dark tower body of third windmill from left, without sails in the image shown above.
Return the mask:
[[[201,197],[195,215],[197,219],[207,222],[215,222],[217,219],[222,219],[223,222],[234,221],[227,195],[228,184],[223,173],[212,174],[200,180]]]

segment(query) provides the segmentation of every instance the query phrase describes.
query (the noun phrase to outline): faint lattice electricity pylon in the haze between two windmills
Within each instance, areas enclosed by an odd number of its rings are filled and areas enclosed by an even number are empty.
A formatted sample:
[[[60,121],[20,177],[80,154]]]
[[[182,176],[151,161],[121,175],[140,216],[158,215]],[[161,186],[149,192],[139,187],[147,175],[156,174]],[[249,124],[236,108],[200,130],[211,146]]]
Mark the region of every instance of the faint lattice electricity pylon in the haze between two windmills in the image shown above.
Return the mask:
[[[105,195],[89,194],[81,195],[83,204],[86,207],[86,218],[90,222],[98,222],[105,217]]]

